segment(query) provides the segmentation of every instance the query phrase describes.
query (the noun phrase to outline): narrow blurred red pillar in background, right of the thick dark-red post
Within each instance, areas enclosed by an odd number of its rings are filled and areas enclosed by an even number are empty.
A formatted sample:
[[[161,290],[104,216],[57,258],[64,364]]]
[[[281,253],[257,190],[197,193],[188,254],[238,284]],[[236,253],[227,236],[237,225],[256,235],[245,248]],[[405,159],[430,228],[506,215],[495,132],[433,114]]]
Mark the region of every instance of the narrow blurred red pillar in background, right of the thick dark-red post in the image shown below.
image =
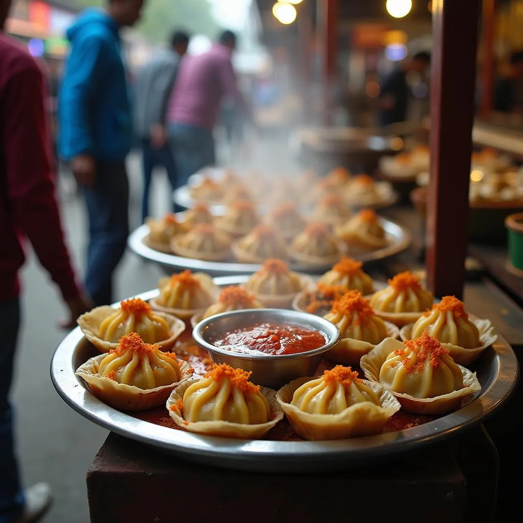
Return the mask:
[[[481,100],[481,116],[487,117],[492,111],[494,100],[494,25],[496,0],[482,1],[482,46],[483,70],[481,74],[483,94]]]

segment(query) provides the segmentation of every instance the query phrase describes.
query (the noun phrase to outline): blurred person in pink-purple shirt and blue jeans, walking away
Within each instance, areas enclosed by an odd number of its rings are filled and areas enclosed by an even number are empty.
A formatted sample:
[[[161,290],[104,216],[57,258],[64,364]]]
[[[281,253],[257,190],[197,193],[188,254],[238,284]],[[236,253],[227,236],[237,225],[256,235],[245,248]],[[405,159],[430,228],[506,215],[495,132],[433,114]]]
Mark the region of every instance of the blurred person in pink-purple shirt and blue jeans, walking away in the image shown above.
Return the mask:
[[[231,62],[235,48],[236,35],[224,31],[208,52],[188,55],[180,64],[167,115],[178,186],[201,168],[215,164],[212,131],[225,97],[250,117]]]

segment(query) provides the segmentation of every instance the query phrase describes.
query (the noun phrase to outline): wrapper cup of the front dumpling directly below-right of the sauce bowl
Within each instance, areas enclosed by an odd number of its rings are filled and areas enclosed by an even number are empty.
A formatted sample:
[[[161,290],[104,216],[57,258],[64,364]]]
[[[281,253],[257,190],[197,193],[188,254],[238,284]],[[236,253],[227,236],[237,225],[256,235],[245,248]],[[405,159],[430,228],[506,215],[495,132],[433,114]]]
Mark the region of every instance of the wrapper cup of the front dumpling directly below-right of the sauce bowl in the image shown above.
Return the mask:
[[[394,395],[379,383],[363,380],[378,395],[381,406],[371,401],[356,403],[339,414],[309,414],[292,405],[292,396],[301,385],[319,377],[298,378],[284,385],[277,393],[283,412],[292,428],[305,439],[329,440],[380,434],[388,419],[400,410]]]

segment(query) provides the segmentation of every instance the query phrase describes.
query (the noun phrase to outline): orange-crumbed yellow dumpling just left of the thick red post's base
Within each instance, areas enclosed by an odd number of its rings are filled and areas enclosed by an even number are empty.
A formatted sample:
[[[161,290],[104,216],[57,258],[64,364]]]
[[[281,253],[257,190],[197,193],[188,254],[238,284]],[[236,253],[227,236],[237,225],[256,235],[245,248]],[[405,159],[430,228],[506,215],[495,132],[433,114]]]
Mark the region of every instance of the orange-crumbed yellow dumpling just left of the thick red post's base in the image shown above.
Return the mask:
[[[388,287],[376,292],[370,304],[381,312],[423,312],[433,301],[433,293],[422,287],[419,278],[405,271],[390,279]]]

